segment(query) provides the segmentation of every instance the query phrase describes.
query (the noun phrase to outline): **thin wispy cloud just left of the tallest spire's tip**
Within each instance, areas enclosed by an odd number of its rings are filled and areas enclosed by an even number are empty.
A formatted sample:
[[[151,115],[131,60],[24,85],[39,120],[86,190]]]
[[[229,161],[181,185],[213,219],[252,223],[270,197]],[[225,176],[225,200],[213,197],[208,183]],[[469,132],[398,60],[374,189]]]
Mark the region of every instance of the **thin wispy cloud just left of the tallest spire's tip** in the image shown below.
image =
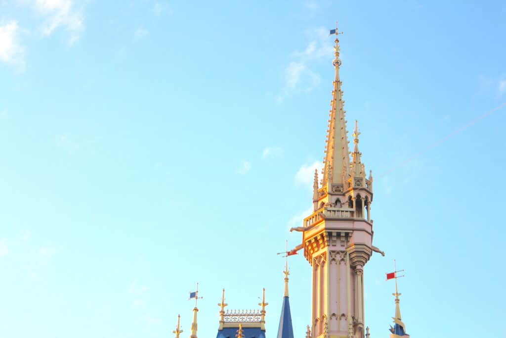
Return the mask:
[[[306,31],[309,43],[302,51],[291,53],[284,70],[284,88],[278,102],[295,92],[309,92],[320,83],[320,75],[311,69],[315,62],[332,57],[332,41],[328,30],[320,27]]]

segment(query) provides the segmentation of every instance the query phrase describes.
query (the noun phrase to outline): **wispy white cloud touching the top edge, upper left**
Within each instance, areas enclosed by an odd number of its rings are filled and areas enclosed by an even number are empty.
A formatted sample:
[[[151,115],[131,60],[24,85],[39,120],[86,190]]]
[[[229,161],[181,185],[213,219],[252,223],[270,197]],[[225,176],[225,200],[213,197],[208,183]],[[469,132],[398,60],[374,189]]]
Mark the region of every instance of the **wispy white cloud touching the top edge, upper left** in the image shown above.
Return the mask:
[[[21,0],[29,5],[43,18],[40,30],[43,35],[51,35],[57,28],[62,27],[69,32],[70,45],[79,40],[84,30],[84,15],[80,8],[76,8],[75,0]]]

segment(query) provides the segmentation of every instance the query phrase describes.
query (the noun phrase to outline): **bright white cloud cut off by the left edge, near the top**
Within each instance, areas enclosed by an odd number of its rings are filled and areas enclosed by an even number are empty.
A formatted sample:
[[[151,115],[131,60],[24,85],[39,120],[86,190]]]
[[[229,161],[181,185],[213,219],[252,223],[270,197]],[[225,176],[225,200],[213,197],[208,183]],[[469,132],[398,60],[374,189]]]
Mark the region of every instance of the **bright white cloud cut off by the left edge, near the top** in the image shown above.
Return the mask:
[[[24,51],[18,41],[19,26],[16,20],[0,25],[0,61],[24,69]]]

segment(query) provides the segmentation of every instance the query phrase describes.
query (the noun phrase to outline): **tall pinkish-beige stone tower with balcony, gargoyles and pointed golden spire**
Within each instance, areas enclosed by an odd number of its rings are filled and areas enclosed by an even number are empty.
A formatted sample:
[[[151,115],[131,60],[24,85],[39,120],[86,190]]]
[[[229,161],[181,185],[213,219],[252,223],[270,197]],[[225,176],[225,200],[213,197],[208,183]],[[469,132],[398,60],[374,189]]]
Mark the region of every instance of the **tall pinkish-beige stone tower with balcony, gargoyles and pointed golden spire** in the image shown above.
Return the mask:
[[[348,149],[343,91],[339,78],[338,30],[335,33],[330,119],[323,177],[315,172],[313,213],[304,219],[304,256],[312,267],[311,338],[364,338],[364,266],[372,251],[372,174],[366,178],[358,149]]]

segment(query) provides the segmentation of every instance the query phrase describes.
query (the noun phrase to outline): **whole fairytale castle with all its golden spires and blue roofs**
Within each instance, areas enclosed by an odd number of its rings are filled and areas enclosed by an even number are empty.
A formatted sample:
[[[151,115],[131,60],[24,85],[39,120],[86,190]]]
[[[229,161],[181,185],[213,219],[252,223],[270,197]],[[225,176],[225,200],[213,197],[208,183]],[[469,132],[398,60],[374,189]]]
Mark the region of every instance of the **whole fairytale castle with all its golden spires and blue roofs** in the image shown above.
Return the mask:
[[[369,338],[364,316],[364,266],[373,252],[384,253],[372,245],[373,221],[372,172],[366,177],[358,143],[357,122],[352,134],[354,149],[348,148],[342,82],[339,77],[338,30],[335,34],[331,109],[328,120],[325,158],[321,179],[315,171],[313,183],[313,212],[301,227],[290,231],[302,233],[302,243],[286,256],[303,250],[312,270],[311,321],[306,338]],[[284,296],[277,338],[294,338],[288,297],[288,267],[284,270]],[[393,275],[392,275],[393,274]],[[387,279],[397,278],[396,272]],[[401,320],[399,295],[395,296],[394,326],[390,338],[409,338]],[[198,298],[198,289],[191,293]],[[266,338],[265,290],[260,310],[225,311],[225,290],[222,291],[217,338]],[[190,338],[197,338],[197,312],[193,309]],[[178,325],[174,333],[179,338]]]

